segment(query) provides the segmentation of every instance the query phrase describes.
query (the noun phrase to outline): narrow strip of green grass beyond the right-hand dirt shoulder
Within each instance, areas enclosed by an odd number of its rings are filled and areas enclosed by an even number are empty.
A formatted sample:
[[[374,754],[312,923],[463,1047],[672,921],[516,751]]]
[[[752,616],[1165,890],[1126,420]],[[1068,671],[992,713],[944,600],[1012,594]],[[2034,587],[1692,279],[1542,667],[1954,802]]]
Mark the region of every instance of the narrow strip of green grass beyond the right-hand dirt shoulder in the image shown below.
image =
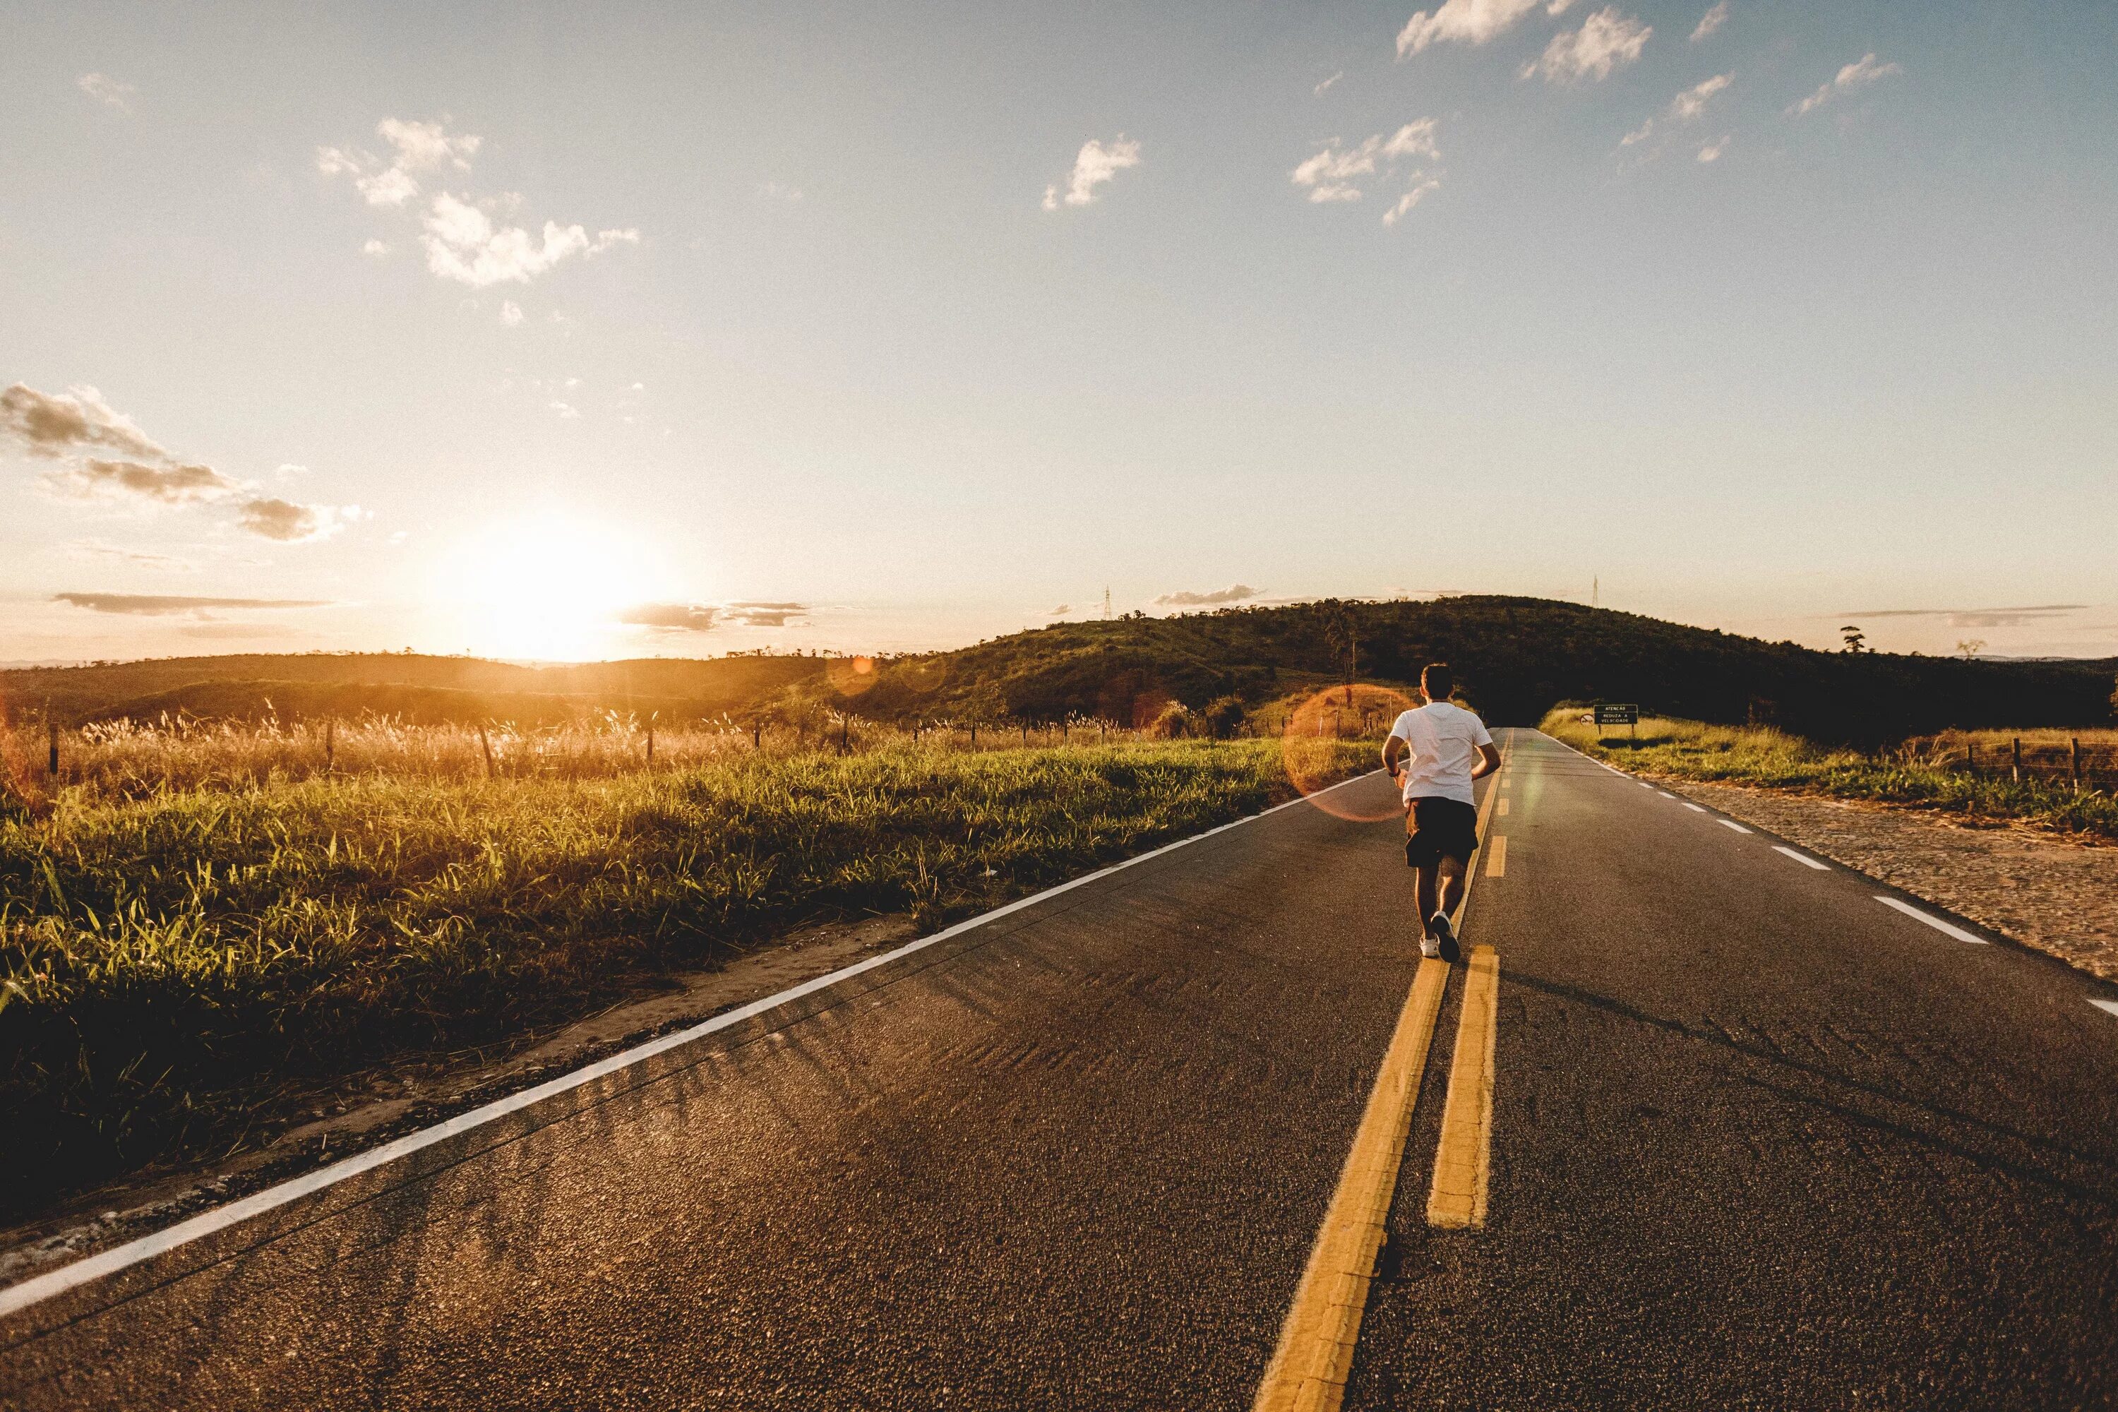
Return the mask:
[[[1690,720],[1641,720],[1639,741],[1620,726],[1599,732],[1580,707],[1550,711],[1542,730],[1627,768],[1713,783],[1807,790],[1834,798],[1936,809],[1976,819],[2021,819],[2042,828],[2118,840],[2118,800],[2069,783],[1953,768],[1940,752],[1904,749],[1864,756],[1826,749],[1764,726],[1705,726]],[[1997,762],[1997,760],[1995,760]]]

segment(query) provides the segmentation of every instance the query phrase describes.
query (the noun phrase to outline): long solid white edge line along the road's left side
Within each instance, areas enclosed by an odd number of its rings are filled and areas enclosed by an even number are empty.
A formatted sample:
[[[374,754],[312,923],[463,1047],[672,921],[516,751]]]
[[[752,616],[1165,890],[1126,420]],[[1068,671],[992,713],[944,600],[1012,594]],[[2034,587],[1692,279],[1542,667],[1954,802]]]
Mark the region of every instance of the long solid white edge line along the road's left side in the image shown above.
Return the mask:
[[[616,1054],[610,1054],[608,1058],[599,1058],[593,1065],[587,1065],[585,1069],[574,1069],[572,1073],[563,1073],[563,1075],[559,1075],[555,1080],[549,1080],[544,1084],[538,1084],[534,1088],[523,1088],[521,1092],[513,1092],[506,1099],[496,1099],[493,1103],[487,1103],[485,1107],[474,1107],[468,1114],[457,1114],[455,1118],[449,1118],[447,1122],[438,1122],[432,1128],[421,1128],[417,1133],[407,1133],[405,1137],[388,1141],[381,1147],[371,1147],[369,1152],[349,1156],[343,1162],[333,1162],[330,1166],[322,1166],[322,1169],[318,1169],[313,1173],[307,1173],[305,1177],[294,1177],[290,1181],[282,1181],[280,1185],[265,1188],[263,1192],[252,1192],[250,1196],[244,1196],[241,1200],[229,1202],[227,1207],[216,1207],[212,1211],[203,1211],[203,1213],[191,1217],[189,1221],[178,1221],[176,1226],[169,1226],[167,1230],[157,1230],[152,1234],[140,1236],[138,1241],[127,1241],[125,1245],[114,1245],[108,1251],[97,1251],[95,1255],[89,1255],[85,1260],[76,1260],[76,1262],[59,1266],[57,1270],[51,1270],[47,1274],[38,1274],[36,1279],[25,1279],[19,1285],[8,1285],[6,1289],[0,1289],[0,1319],[6,1319],[8,1315],[21,1313],[21,1310],[30,1308],[32,1304],[40,1304],[40,1302],[44,1302],[44,1300],[49,1300],[49,1298],[53,1298],[57,1293],[66,1293],[68,1289],[76,1289],[80,1285],[100,1281],[106,1274],[116,1274],[119,1270],[125,1270],[129,1266],[140,1264],[142,1260],[152,1260],[155,1255],[165,1255],[165,1253],[178,1249],[180,1245],[191,1245],[193,1241],[199,1241],[201,1236],[210,1236],[210,1234],[214,1234],[218,1230],[227,1230],[229,1226],[239,1226],[239,1224],[248,1221],[250,1217],[263,1215],[263,1213],[273,1211],[277,1207],[284,1207],[284,1205],[288,1205],[292,1200],[301,1200],[303,1196],[309,1196],[311,1192],[322,1192],[324,1188],[337,1185],[337,1183],[345,1181],[347,1177],[358,1177],[360,1173],[375,1171],[377,1166],[385,1166],[390,1162],[396,1162],[402,1156],[411,1156],[413,1152],[419,1152],[424,1147],[432,1147],[436,1143],[443,1143],[443,1141],[447,1141],[451,1137],[457,1137],[460,1133],[470,1133],[472,1128],[483,1128],[485,1124],[489,1124],[489,1122],[493,1122],[498,1118],[506,1118],[508,1114],[517,1114],[517,1111],[521,1111],[525,1107],[542,1103],[544,1099],[551,1099],[555,1094],[568,1092],[570,1088],[580,1088],[585,1084],[593,1084],[595,1080],[604,1078],[606,1073],[616,1073],[618,1069],[629,1069],[629,1067],[633,1067],[633,1065],[638,1065],[638,1063],[642,1063],[646,1058],[654,1058],[657,1054],[665,1054],[665,1052],[669,1052],[674,1048],[690,1044],[693,1039],[703,1039],[705,1035],[712,1035],[716,1031],[729,1029],[733,1025],[741,1025],[743,1020],[754,1018],[758,1014],[765,1014],[767,1010],[773,1010],[773,1008],[784,1006],[788,1001],[801,999],[803,995],[813,995],[815,991],[822,991],[824,986],[839,984],[841,980],[851,980],[854,976],[860,976],[862,972],[873,972],[879,965],[890,965],[892,961],[896,961],[900,957],[909,957],[915,951],[923,951],[923,948],[928,948],[928,946],[932,946],[936,942],[945,942],[951,936],[962,936],[964,931],[970,931],[974,927],[983,927],[987,923],[1000,921],[1008,912],[1019,912],[1025,906],[1034,906],[1038,902],[1044,902],[1046,898],[1057,898],[1063,891],[1074,891],[1076,887],[1084,887],[1089,883],[1095,883],[1097,879],[1108,879],[1112,872],[1123,872],[1125,868],[1131,868],[1133,864],[1144,864],[1150,857],[1161,857],[1163,853],[1169,853],[1173,849],[1182,849],[1188,843],[1199,843],[1203,838],[1211,838],[1214,834],[1222,834],[1222,832],[1226,832],[1231,828],[1237,828],[1241,823],[1252,823],[1252,821],[1262,819],[1267,815],[1279,813],[1281,809],[1294,809],[1296,804],[1307,804],[1309,800],[1317,798],[1320,794],[1330,794],[1332,790],[1343,790],[1345,785],[1351,785],[1351,783],[1358,783],[1362,779],[1368,779],[1368,775],[1381,775],[1381,771],[1366,771],[1362,775],[1353,775],[1351,779],[1341,779],[1339,783],[1334,783],[1334,785],[1330,785],[1326,790],[1317,790],[1317,794],[1300,794],[1296,798],[1290,798],[1284,804],[1273,804],[1271,809],[1262,809],[1258,813],[1243,815],[1241,819],[1231,819],[1226,823],[1218,823],[1216,828],[1209,828],[1203,834],[1192,834],[1188,838],[1178,838],[1175,843],[1165,843],[1159,849],[1150,849],[1146,853],[1137,853],[1137,855],[1127,857],[1123,862],[1116,862],[1116,864],[1112,864],[1108,868],[1097,868],[1095,872],[1084,872],[1078,879],[1070,879],[1070,881],[1059,883],[1055,887],[1046,887],[1040,893],[1029,893],[1027,898],[1017,898],[1015,902],[1008,902],[1006,906],[995,906],[991,912],[979,912],[976,917],[964,919],[964,921],[955,923],[953,927],[947,927],[945,931],[936,931],[934,936],[921,936],[919,940],[904,942],[896,951],[885,951],[885,953],[881,953],[877,957],[868,957],[866,961],[856,961],[851,965],[843,965],[843,967],[830,972],[828,976],[818,976],[818,978],[805,980],[805,982],[801,982],[796,986],[788,986],[786,991],[779,991],[777,995],[767,995],[765,999],[754,999],[748,1006],[739,1006],[735,1010],[726,1010],[722,1014],[716,1014],[710,1020],[701,1020],[699,1025],[693,1025],[690,1029],[671,1031],[667,1035],[661,1035],[659,1039],[648,1039],[646,1044],[638,1044],[638,1046],[633,1046],[629,1050],[621,1050]]]

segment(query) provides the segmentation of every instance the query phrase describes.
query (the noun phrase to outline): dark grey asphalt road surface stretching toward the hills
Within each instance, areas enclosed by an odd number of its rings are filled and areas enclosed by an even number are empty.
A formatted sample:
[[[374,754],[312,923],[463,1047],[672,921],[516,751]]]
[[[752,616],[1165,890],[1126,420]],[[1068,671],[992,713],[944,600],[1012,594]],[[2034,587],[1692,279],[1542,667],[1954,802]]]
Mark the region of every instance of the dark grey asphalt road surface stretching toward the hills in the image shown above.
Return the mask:
[[[1345,1406],[2112,1406],[2114,991],[1544,737],[1504,779],[1487,1224],[1425,1226],[1459,967]],[[59,1293],[0,1406],[1248,1408],[1398,828],[1279,811]]]

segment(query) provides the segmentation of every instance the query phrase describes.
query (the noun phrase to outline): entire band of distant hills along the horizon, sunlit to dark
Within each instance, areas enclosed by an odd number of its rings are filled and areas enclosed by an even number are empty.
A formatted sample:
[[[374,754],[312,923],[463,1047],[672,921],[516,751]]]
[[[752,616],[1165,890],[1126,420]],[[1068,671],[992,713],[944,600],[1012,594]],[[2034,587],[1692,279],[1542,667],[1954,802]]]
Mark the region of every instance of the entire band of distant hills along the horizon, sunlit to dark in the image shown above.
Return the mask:
[[[1343,680],[1402,686],[1430,660],[1451,663],[1461,694],[1493,722],[1533,724],[1565,701],[1637,701],[1667,716],[1855,745],[1951,726],[2107,724],[2118,669],[2118,660],[1817,652],[1485,595],[1129,614],[877,660],[746,654],[521,667],[415,654],[201,656],[6,671],[0,690],[17,716],[49,701],[64,722],[161,711],[542,722],[604,709],[663,718],[832,709],[896,722],[1146,724],[1171,701],[1258,705]]]

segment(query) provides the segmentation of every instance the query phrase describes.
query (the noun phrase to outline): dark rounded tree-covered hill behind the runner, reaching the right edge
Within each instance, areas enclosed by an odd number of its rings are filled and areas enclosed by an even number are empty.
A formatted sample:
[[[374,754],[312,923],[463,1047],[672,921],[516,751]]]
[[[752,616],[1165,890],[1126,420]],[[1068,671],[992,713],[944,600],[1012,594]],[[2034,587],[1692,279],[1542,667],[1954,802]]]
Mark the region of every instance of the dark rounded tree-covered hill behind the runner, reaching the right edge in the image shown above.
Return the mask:
[[[801,690],[828,688],[834,703],[883,718],[1144,720],[1171,699],[1256,703],[1347,675],[1406,684],[1430,660],[1451,663],[1461,694],[1504,724],[1536,724],[1563,701],[1637,701],[1860,745],[1951,726],[2101,724],[2118,669],[1817,652],[1550,599],[1455,597],[1063,622],[885,663],[873,684],[832,671]]]

